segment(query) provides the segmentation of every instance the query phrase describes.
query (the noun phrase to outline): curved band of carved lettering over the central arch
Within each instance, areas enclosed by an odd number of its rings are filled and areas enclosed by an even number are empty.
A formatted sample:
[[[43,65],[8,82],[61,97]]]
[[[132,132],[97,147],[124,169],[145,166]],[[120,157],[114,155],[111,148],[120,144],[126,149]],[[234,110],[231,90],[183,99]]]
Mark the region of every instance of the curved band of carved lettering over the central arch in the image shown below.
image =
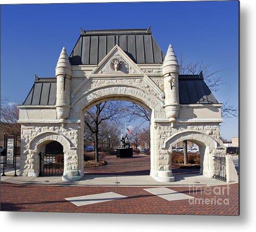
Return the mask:
[[[99,96],[104,96],[104,95],[109,95],[109,94],[128,94],[128,95],[133,95],[139,99],[142,99],[147,105],[152,105],[155,107],[157,105],[157,102],[152,99],[149,95],[145,94],[144,92],[138,90],[138,89],[133,89],[129,87],[110,87],[107,89],[100,89],[96,90],[93,93],[90,93],[87,96],[87,100],[91,101],[92,99],[95,99]]]

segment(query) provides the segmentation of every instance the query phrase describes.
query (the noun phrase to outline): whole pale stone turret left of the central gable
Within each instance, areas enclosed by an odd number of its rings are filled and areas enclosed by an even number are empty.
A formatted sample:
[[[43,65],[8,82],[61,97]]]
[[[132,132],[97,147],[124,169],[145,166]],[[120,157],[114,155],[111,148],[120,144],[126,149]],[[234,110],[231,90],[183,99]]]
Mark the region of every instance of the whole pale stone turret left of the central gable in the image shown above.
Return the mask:
[[[64,119],[69,117],[70,113],[70,78],[72,75],[72,69],[65,47],[62,48],[55,70],[57,78],[57,117],[60,121],[64,121]]]

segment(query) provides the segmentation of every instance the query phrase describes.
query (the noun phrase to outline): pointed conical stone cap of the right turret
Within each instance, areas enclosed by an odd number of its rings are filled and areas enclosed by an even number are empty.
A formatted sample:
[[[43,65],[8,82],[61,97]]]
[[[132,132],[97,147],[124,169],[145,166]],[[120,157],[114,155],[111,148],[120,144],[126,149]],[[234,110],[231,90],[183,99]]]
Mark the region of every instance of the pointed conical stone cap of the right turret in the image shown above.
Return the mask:
[[[180,66],[179,66],[176,54],[174,53],[174,50],[170,44],[166,52],[166,57],[163,63],[163,73],[165,75],[166,73],[173,72],[173,71],[179,72],[179,70],[180,70]]]

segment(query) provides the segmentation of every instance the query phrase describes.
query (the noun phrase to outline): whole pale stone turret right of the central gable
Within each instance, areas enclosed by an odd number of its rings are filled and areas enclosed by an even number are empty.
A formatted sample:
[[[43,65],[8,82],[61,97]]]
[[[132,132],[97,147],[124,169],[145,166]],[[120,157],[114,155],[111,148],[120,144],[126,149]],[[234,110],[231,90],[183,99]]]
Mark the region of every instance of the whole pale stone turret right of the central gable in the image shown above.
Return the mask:
[[[164,88],[165,88],[165,113],[169,121],[176,122],[179,114],[179,72],[180,66],[176,54],[169,45],[163,63]]]

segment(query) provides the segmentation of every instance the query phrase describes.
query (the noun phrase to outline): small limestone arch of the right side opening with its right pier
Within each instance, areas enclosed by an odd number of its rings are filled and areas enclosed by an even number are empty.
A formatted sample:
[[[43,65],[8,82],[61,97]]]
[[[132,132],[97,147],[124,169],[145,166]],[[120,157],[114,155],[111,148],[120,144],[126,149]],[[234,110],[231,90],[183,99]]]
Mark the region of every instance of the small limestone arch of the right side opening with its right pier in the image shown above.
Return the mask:
[[[213,175],[213,158],[211,151],[218,148],[219,144],[217,141],[203,132],[196,130],[186,130],[171,135],[171,137],[165,141],[164,146],[161,148],[171,150],[174,144],[183,140],[194,142],[199,146],[200,174],[204,174],[211,178]]]

